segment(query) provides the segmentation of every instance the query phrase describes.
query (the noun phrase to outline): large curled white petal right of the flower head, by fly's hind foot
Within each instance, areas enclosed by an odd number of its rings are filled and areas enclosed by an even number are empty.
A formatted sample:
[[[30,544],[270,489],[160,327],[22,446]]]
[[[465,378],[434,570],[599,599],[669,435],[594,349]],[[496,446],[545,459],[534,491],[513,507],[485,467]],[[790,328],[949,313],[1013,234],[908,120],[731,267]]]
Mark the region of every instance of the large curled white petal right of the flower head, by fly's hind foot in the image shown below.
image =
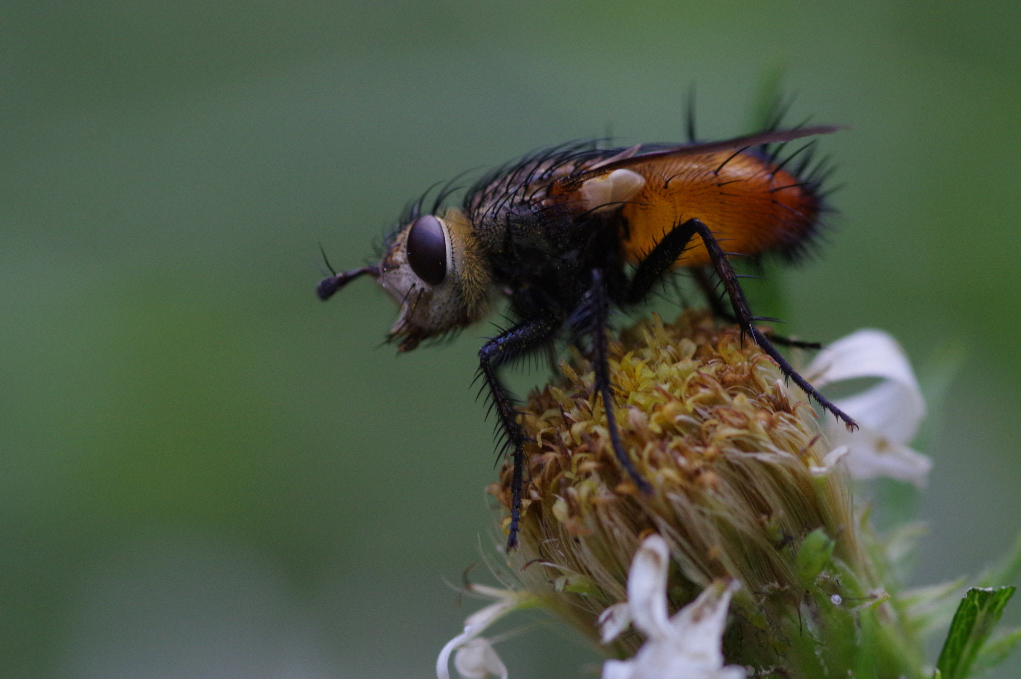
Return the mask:
[[[834,446],[847,447],[843,463],[856,479],[885,476],[925,485],[932,462],[907,446],[925,417],[925,401],[911,363],[892,337],[878,330],[853,333],[820,351],[805,375],[816,387],[880,378],[879,384],[833,401],[860,429],[847,432],[827,418],[827,437]]]

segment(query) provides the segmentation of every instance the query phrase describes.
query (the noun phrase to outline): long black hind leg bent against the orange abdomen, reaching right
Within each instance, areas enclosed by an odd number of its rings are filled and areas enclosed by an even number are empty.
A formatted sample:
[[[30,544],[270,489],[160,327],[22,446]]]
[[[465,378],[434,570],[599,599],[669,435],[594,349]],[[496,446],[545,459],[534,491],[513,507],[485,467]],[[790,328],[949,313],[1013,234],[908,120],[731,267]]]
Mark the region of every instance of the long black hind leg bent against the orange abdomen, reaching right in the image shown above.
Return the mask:
[[[857,429],[858,424],[850,416],[833,405],[828,398],[820,394],[815,387],[809,384],[808,380],[798,375],[797,371],[787,362],[787,359],[777,351],[769,338],[756,328],[756,319],[751,316],[751,309],[748,308],[748,302],[744,298],[744,291],[741,290],[737,274],[734,273],[734,269],[727,260],[727,255],[724,253],[723,248],[720,247],[720,243],[716,240],[713,232],[700,220],[691,219],[675,227],[652,248],[652,251],[642,260],[641,264],[635,271],[634,277],[631,279],[631,288],[628,291],[627,297],[628,301],[637,302],[643,299],[652,285],[674,265],[674,262],[681,256],[695,234],[698,234],[698,237],[706,245],[706,250],[709,252],[713,268],[716,270],[717,276],[720,277],[720,281],[727,291],[727,296],[730,297],[730,305],[734,311],[734,319],[741,328],[741,332],[750,335],[751,339],[759,345],[759,348],[763,350],[763,353],[776,361],[784,377],[793,380],[794,384],[800,387],[809,396],[815,398],[823,406],[823,409],[829,410],[838,420],[842,420],[847,429]]]

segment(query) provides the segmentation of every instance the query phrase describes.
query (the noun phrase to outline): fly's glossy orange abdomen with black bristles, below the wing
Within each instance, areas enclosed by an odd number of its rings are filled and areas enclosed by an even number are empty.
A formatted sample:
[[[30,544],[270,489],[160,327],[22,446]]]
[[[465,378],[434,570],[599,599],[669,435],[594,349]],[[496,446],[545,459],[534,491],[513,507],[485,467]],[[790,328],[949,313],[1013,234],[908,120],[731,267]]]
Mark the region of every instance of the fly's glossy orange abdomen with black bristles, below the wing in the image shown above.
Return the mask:
[[[641,261],[668,233],[701,220],[727,252],[758,255],[804,245],[817,225],[820,198],[812,183],[751,153],[733,151],[650,160],[630,169],[645,186],[623,208],[625,258]],[[698,238],[677,266],[710,263]]]

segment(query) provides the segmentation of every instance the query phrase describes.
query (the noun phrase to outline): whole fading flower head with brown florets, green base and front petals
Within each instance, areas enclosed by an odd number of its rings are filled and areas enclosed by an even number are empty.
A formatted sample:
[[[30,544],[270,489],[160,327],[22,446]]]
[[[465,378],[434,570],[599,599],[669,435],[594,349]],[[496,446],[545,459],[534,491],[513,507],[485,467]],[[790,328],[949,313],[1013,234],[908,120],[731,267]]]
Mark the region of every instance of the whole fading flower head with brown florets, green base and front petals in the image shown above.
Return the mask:
[[[655,667],[690,661],[694,649],[680,653],[669,630],[696,618],[716,621],[713,642],[707,632],[698,643],[713,668],[704,676],[714,678],[739,676],[716,662],[722,658],[757,672],[779,667],[791,678],[845,676],[857,671],[854,630],[863,619],[883,618],[900,634],[837,464],[854,448],[833,447],[772,359],[737,328],[689,311],[672,325],[653,318],[622,333],[610,367],[624,446],[652,492],[622,472],[591,366],[576,355],[562,363],[563,380],[524,408],[533,443],[521,547],[510,556],[547,608],[611,658],[631,659],[604,677],[670,676],[639,669],[653,658]],[[504,512],[509,484],[505,466],[491,487]],[[657,573],[669,575],[643,598],[634,573],[653,552],[664,554]],[[730,582],[740,589],[720,584]],[[898,643],[895,671],[915,649],[904,635]]]

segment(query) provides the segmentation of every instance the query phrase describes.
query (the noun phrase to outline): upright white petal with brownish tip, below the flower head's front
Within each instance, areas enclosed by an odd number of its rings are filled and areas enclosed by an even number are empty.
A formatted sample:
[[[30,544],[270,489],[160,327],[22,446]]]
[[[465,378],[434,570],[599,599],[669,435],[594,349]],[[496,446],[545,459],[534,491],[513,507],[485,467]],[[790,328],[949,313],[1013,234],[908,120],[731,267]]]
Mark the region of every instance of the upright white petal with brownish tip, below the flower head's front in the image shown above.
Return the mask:
[[[638,546],[628,572],[628,605],[635,627],[649,639],[670,636],[667,617],[667,573],[670,548],[659,535],[649,535]]]

